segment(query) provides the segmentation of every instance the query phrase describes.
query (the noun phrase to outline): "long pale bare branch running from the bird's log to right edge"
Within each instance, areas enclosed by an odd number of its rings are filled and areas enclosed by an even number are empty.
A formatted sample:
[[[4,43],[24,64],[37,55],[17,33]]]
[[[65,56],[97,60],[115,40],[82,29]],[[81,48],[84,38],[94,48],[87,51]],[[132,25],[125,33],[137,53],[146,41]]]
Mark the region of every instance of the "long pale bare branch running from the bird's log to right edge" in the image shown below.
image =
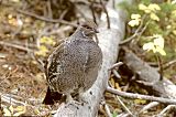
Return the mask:
[[[128,98],[139,98],[139,99],[146,99],[146,100],[153,100],[153,102],[160,102],[164,104],[172,104],[176,105],[176,99],[169,99],[169,98],[163,98],[163,97],[154,97],[148,95],[141,95],[141,94],[132,94],[132,93],[125,93],[121,92],[111,87],[107,87],[107,92],[117,94],[119,96],[128,97]]]

